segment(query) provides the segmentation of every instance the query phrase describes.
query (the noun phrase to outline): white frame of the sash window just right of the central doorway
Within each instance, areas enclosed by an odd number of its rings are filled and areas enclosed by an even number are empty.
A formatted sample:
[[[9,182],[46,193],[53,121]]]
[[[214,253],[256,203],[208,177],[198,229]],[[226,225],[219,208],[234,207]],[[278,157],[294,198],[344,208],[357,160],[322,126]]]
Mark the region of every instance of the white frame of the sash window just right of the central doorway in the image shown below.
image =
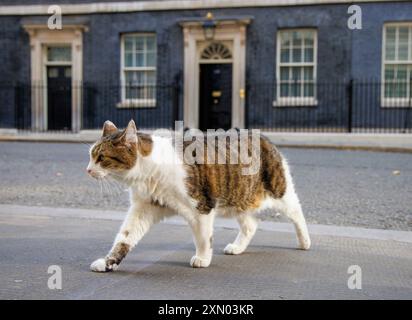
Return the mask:
[[[281,62],[281,33],[282,32],[313,32],[313,62]],[[304,46],[302,47],[303,50]],[[280,96],[280,68],[281,67],[313,67],[313,97],[281,97]],[[316,28],[294,28],[294,29],[280,29],[276,34],[276,100],[273,101],[274,107],[309,107],[317,106],[316,99],[316,83],[317,83],[317,67],[318,67],[318,30]],[[303,78],[302,78],[303,80]],[[303,84],[302,84],[303,85]],[[302,91],[303,92],[303,91]]]

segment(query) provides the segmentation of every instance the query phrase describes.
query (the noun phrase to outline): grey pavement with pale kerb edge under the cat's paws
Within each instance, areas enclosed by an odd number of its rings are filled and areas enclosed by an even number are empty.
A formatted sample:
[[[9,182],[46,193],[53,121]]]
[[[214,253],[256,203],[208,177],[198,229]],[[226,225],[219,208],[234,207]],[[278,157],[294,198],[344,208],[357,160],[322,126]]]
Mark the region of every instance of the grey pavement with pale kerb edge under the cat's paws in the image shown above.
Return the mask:
[[[412,298],[412,233],[400,231],[310,226],[313,247],[300,251],[289,227],[263,223],[247,253],[225,256],[236,230],[219,220],[212,265],[192,269],[190,231],[174,219],[153,227],[118,271],[90,272],[122,216],[1,206],[0,299]],[[47,287],[50,265],[62,268],[62,290]],[[351,265],[362,268],[361,290],[348,289]]]

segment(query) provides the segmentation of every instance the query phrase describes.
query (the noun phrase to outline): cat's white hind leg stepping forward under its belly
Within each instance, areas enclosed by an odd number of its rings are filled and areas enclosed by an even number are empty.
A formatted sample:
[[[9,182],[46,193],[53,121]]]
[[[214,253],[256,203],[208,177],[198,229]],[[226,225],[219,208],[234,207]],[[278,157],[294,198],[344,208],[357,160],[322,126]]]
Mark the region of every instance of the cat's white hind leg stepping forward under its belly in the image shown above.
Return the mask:
[[[250,213],[242,213],[237,216],[239,233],[233,243],[229,243],[223,250],[225,254],[241,254],[244,252],[255,235],[258,222]]]

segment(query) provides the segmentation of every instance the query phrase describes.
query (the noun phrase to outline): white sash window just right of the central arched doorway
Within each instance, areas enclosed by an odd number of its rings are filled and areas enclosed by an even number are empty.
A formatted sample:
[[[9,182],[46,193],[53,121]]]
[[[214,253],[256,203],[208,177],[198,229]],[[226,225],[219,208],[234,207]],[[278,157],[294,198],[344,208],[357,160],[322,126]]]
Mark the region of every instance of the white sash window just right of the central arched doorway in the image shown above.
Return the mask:
[[[316,31],[282,30],[277,37],[274,106],[316,105]]]

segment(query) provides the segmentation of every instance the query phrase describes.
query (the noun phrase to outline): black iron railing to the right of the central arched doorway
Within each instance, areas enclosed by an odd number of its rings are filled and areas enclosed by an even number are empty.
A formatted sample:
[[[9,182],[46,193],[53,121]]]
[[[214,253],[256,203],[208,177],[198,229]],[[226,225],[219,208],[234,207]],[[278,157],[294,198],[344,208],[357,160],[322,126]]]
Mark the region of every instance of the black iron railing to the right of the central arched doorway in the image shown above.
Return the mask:
[[[310,85],[248,86],[247,126],[281,132],[412,132],[412,90],[361,80]]]

